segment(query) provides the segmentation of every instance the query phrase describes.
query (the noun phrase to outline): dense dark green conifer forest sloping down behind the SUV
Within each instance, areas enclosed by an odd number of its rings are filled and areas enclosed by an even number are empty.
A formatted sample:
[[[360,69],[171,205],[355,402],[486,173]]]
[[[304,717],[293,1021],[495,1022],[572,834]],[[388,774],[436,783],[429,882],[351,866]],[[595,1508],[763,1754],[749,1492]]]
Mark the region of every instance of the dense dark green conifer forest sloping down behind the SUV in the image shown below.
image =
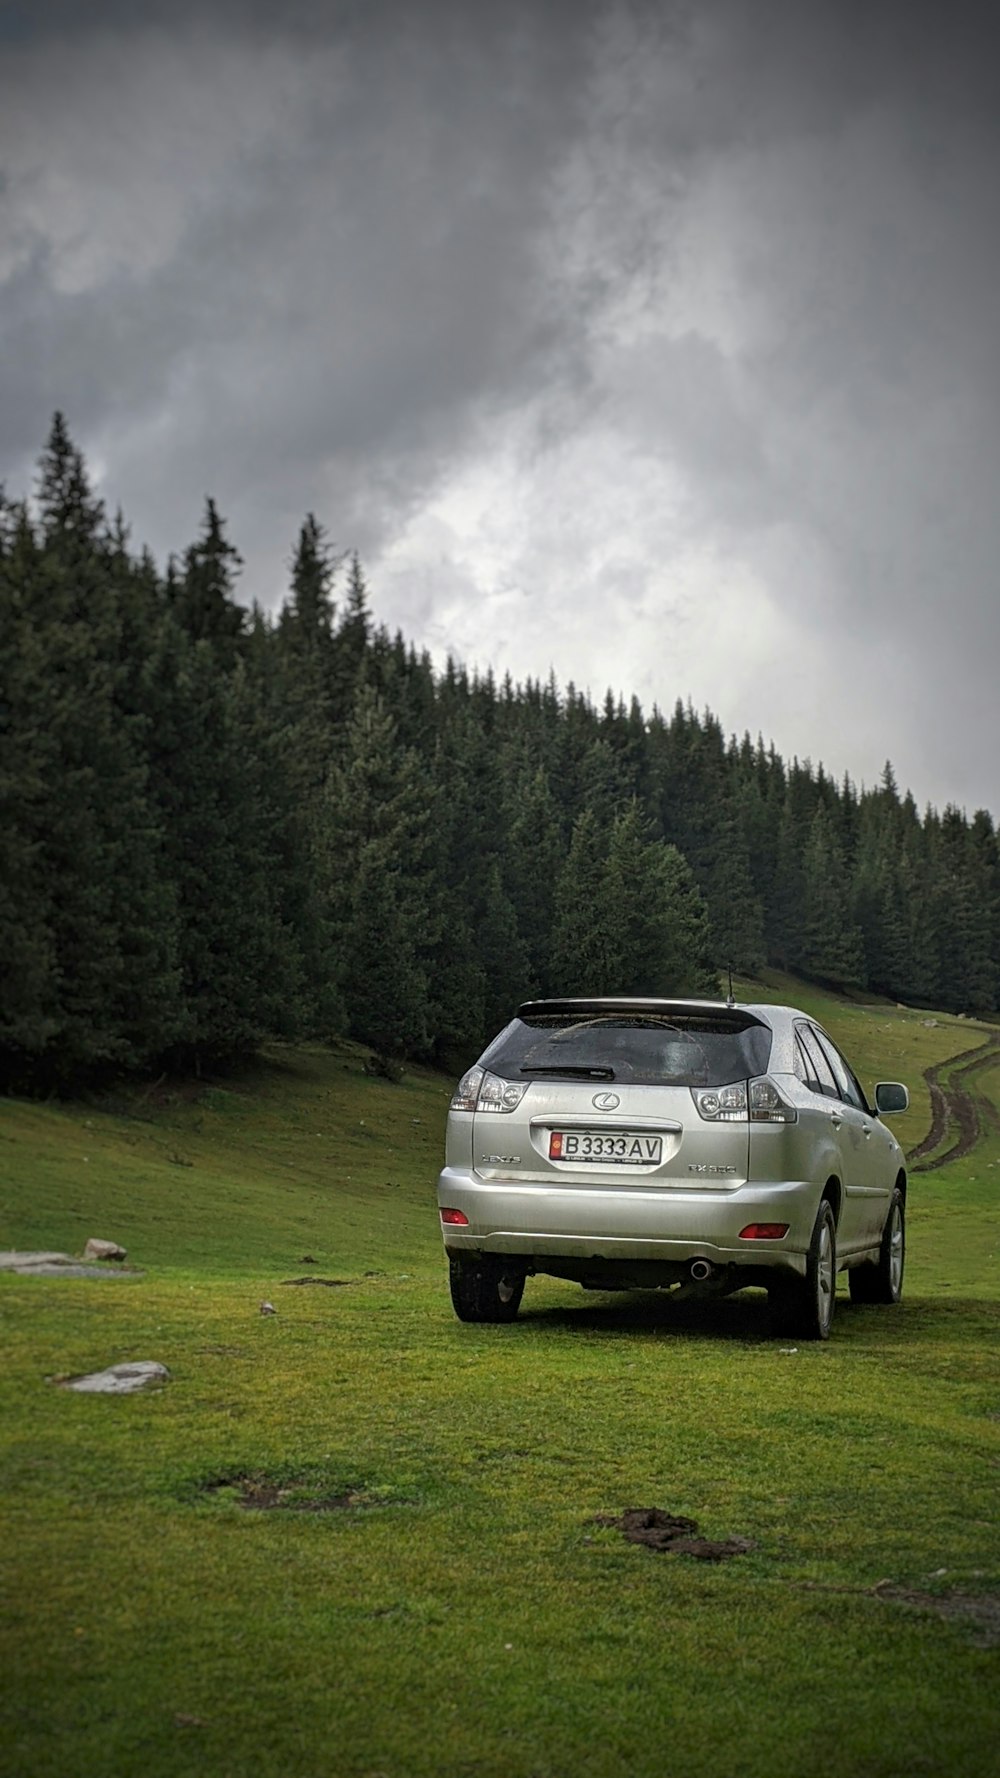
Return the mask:
[[[160,573],[57,414],[0,501],[0,1083],[351,1035],[456,1063],[528,994],[715,994],[765,962],[991,1013],[986,811],[877,788],[374,624],[308,516],[276,615],[215,503]]]

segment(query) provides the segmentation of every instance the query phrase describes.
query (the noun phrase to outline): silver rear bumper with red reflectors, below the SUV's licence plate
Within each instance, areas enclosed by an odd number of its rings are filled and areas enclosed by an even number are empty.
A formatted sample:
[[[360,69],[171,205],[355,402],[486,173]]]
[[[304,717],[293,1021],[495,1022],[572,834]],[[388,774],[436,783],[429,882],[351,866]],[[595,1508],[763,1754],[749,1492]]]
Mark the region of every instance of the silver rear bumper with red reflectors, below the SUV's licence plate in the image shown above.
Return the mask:
[[[495,1184],[461,1168],[438,1179],[438,1204],[457,1209],[468,1229],[443,1227],[448,1253],[511,1253],[528,1269],[589,1261],[785,1269],[802,1275],[819,1188],[811,1181],[754,1181],[728,1189],[635,1189],[594,1184],[575,1191],[543,1184]],[[740,1241],[747,1223],[783,1221],[781,1241]]]

